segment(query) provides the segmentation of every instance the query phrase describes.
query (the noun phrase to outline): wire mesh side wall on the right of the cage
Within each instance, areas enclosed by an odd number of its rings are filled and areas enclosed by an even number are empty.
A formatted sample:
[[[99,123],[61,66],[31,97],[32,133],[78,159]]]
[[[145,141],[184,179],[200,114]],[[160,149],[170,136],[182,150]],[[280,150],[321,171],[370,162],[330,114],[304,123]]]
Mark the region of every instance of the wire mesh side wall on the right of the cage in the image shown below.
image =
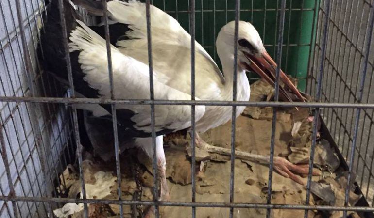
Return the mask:
[[[331,3],[331,14],[319,7],[317,38],[311,59],[310,88],[314,92],[318,62],[323,60],[322,102],[371,103],[370,92],[373,75],[372,3],[346,1]],[[327,18],[324,18],[326,17]],[[321,22],[328,20],[326,56],[322,59]],[[367,58],[367,59],[366,59]],[[365,83],[360,83],[363,79]],[[360,98],[362,94],[362,98]],[[361,112],[361,113],[360,113]],[[371,109],[322,109],[321,114],[334,136],[344,158],[353,163],[358,185],[369,202],[373,199],[372,164],[373,146],[370,144],[373,110]],[[358,123],[355,123],[354,121]],[[358,136],[355,136],[357,127]],[[354,145],[354,146],[352,146]],[[363,149],[364,148],[364,149]],[[354,153],[352,153],[354,149]],[[351,159],[356,156],[355,160]],[[351,158],[350,158],[351,157]]]

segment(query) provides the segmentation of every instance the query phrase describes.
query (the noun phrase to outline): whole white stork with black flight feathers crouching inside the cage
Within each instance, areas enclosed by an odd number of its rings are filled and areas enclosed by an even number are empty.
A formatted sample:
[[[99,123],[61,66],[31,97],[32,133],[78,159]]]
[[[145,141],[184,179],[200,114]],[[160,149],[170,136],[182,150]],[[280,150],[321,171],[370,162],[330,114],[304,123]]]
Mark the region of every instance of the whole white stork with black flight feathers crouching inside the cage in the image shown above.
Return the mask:
[[[101,2],[75,0],[97,15]],[[65,4],[69,7],[68,4]],[[110,19],[111,53],[113,64],[114,93],[117,99],[149,99],[149,68],[145,4],[136,0],[107,2]],[[154,98],[163,100],[191,99],[191,66],[190,35],[180,24],[162,10],[151,5],[153,79]],[[55,9],[56,10],[56,9]],[[74,84],[77,92],[85,97],[110,97],[107,52],[103,26],[88,27],[78,19],[74,10],[65,10],[67,26],[70,34],[70,56],[73,64]],[[58,14],[58,13],[57,13]],[[49,13],[53,16],[52,13]],[[66,74],[58,65],[56,49],[58,32],[54,28],[57,21],[49,17],[45,27],[44,40],[47,66],[51,70]],[[252,70],[266,81],[274,85],[276,63],[266,52],[262,40],[255,28],[248,22],[238,24],[238,71],[237,100],[248,101],[250,87],[245,71]],[[234,21],[226,24],[217,37],[217,53],[222,63],[222,72],[216,63],[197,42],[195,93],[197,100],[232,100],[233,65],[234,65]],[[60,41],[61,42],[61,41]],[[47,44],[47,45],[46,45]],[[49,48],[50,46],[51,48]],[[56,48],[57,47],[57,48]],[[46,54],[44,54],[46,56]],[[57,66],[56,66],[57,65]],[[280,78],[289,89],[304,100],[296,87],[281,71]],[[290,100],[283,88],[280,96]],[[89,107],[80,105],[82,109],[92,111],[94,117],[110,119],[110,106],[96,105]],[[237,107],[237,116],[245,107]],[[209,152],[230,154],[229,149],[219,148],[205,143],[199,133],[217,127],[231,119],[232,107],[229,106],[196,106],[196,145]],[[117,117],[119,137],[134,138],[133,145],[142,148],[148,156],[153,156],[151,136],[150,107],[147,105],[118,105]],[[166,200],[168,189],[166,183],[166,160],[163,150],[163,134],[182,130],[191,126],[191,107],[157,105],[155,106],[156,149],[159,176],[161,179],[161,198]],[[238,152],[238,157],[269,163],[269,156],[260,156],[246,152]],[[291,164],[283,157],[274,157],[274,169],[285,177],[298,183],[301,179],[291,171],[307,174],[306,166]]]

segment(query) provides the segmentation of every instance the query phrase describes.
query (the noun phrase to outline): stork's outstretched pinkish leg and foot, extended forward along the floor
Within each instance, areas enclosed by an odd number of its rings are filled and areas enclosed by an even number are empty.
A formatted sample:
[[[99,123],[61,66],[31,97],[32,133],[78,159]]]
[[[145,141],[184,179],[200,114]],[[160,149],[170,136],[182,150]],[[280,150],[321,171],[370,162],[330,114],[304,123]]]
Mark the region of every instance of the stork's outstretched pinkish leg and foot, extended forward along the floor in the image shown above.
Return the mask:
[[[195,133],[195,144],[197,147],[204,149],[207,152],[231,156],[231,149],[210,145],[206,143],[202,138],[200,138],[197,132]],[[235,157],[239,159],[259,162],[262,164],[270,163],[270,156],[266,155],[255,155],[248,152],[235,151]],[[277,171],[279,174],[286,178],[290,178],[301,185],[304,185],[304,182],[301,180],[301,178],[295,175],[293,172],[307,175],[309,171],[308,164],[296,165],[289,162],[284,157],[274,157],[273,163],[273,169]],[[313,175],[319,175],[319,172],[313,171]]]

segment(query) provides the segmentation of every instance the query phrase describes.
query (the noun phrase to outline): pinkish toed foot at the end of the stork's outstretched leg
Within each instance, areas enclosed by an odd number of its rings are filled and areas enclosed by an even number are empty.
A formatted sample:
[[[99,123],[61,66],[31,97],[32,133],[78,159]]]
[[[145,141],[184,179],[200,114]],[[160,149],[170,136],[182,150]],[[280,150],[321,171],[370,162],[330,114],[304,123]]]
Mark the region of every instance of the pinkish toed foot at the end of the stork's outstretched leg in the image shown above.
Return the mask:
[[[277,171],[279,174],[286,178],[290,178],[301,185],[305,185],[300,176],[297,176],[293,172],[302,175],[307,175],[309,173],[309,164],[296,165],[289,162],[284,157],[274,157],[273,163],[274,170]],[[318,171],[313,171],[312,174],[320,175]]]

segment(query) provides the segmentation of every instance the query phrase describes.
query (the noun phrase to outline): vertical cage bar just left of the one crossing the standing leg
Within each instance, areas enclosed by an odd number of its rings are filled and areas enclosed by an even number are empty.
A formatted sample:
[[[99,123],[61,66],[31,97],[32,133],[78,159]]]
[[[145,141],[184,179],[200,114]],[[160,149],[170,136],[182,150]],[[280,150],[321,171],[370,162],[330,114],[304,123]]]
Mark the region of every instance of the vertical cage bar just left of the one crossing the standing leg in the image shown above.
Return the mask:
[[[164,4],[165,5],[165,4]],[[109,35],[109,23],[108,23],[108,11],[106,0],[102,1],[102,11],[104,14],[104,28],[105,28],[105,41],[106,41],[106,53],[108,58],[108,72],[109,72],[109,85],[110,85],[110,98],[115,99],[114,86],[113,86],[113,67],[112,67],[112,53]],[[118,129],[117,129],[117,112],[116,104],[112,104],[112,123],[113,123],[113,135],[114,135],[114,149],[116,155],[116,172],[117,172],[117,193],[118,200],[122,200],[122,190],[121,190],[121,168],[119,160],[119,142],[118,142]],[[123,205],[119,205],[120,217],[123,218]]]

